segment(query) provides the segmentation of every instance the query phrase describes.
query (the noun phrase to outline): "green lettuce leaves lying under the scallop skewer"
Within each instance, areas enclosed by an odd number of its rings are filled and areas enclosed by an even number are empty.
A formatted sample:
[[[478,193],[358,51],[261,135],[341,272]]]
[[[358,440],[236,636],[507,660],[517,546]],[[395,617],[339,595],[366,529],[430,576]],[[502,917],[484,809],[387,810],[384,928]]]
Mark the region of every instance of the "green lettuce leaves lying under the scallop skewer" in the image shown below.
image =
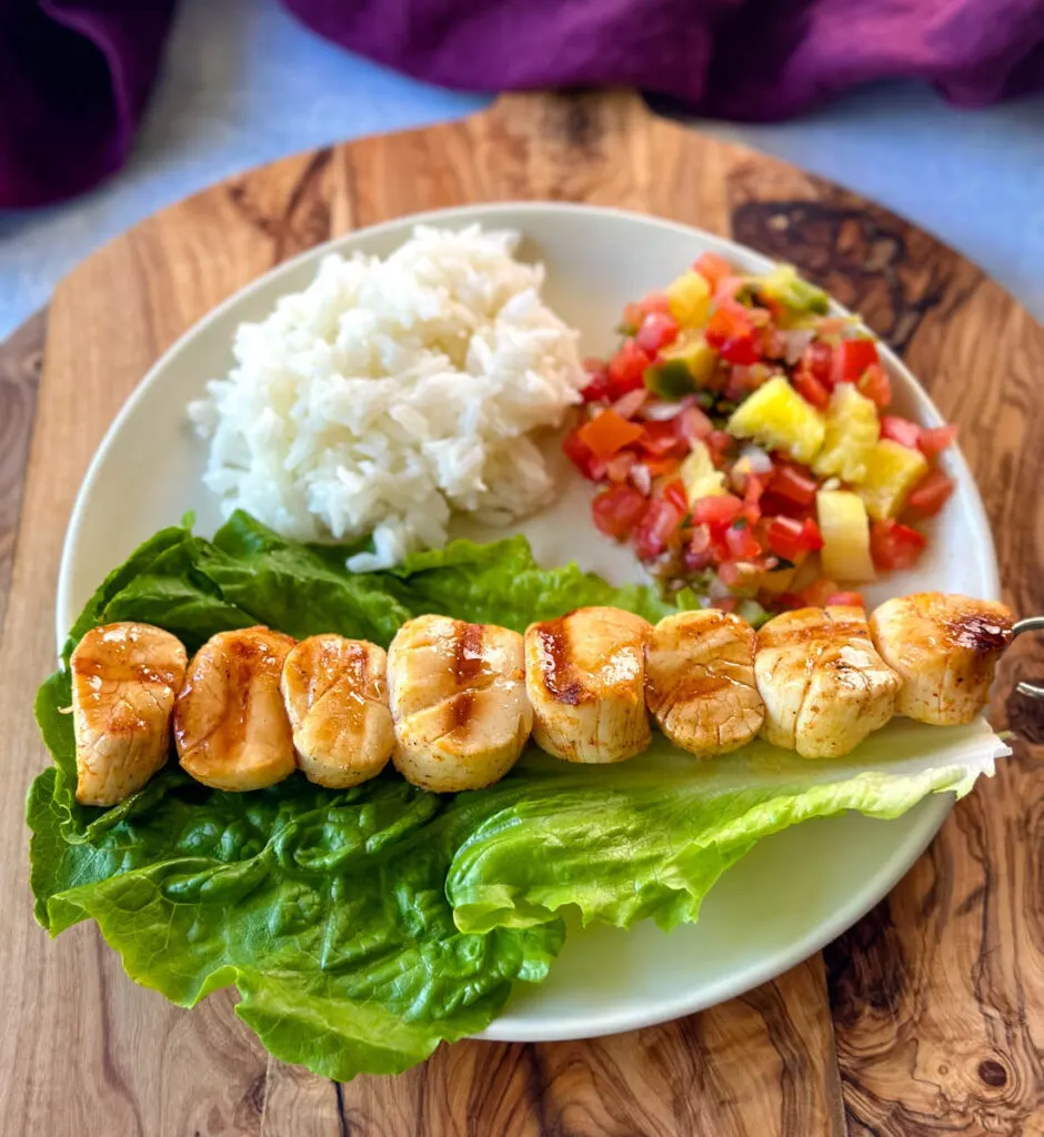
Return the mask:
[[[283,540],[246,514],[213,541],[163,530],[89,600],[64,658],[89,628],[116,620],[159,624],[194,650],[254,623],[387,645],[425,612],[521,630],[586,604],[651,620],[671,611],[649,589],[615,589],[575,565],[540,568],[522,538],[457,541],[358,575],[345,568],[350,551]],[[295,775],[224,794],[172,763],[97,810],[74,799],[69,704],[63,670],[35,708],[53,756],[27,804],[36,918],[52,935],[96,920],[131,978],[183,1006],[234,985],[237,1013],[273,1054],[340,1079],[404,1070],[440,1040],[482,1030],[513,982],[547,974],[565,908],[622,927],[695,920],[763,836],[964,792],[995,752],[983,737],[943,742],[947,732],[931,728],[931,747],[914,728],[814,764],[760,746],[698,763],[661,742],[610,769],[533,750],[498,785],[456,796],[393,771],[340,792]]]

